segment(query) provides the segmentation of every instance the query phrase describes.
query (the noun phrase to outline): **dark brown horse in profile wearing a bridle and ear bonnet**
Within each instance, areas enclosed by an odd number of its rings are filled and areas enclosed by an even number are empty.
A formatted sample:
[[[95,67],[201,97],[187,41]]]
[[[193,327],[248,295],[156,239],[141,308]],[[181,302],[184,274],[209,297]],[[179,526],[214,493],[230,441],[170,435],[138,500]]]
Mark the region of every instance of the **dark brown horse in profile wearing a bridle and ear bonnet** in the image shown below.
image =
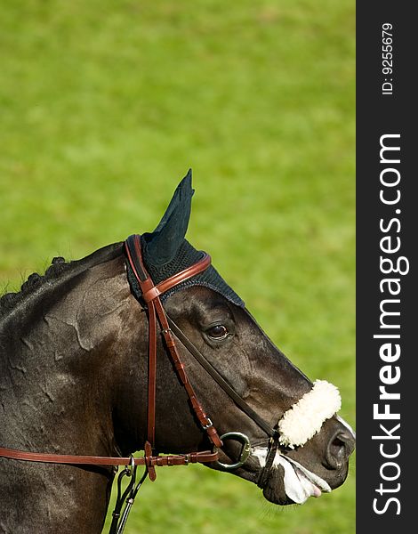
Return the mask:
[[[137,238],[142,267],[157,287],[202,261],[184,239],[192,193],[188,174],[157,229]],[[54,258],[43,277],[31,275],[20,293],[0,300],[0,448],[98,457],[144,449],[151,317],[141,276],[127,255],[129,248],[117,243],[71,263]],[[219,462],[208,465],[258,483],[273,503],[303,503],[340,486],[354,436],[334,415],[334,386],[312,384],[295,368],[212,266],[158,299],[177,328],[176,336],[166,328],[177,341],[177,370],[187,371],[213,425],[192,407],[158,335],[148,470],[157,451],[186,455],[214,443]],[[202,368],[199,355],[214,375]],[[205,432],[212,426],[219,434],[236,434],[222,445]],[[101,531],[114,467],[6,456],[0,457],[1,532]]]

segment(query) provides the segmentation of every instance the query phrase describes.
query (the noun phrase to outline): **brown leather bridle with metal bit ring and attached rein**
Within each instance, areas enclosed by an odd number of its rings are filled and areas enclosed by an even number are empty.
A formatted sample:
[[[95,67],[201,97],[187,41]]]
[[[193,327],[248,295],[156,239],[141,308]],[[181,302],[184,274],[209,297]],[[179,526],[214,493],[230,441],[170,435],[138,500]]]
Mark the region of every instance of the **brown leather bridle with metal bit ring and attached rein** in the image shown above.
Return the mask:
[[[203,253],[203,257],[191,265],[188,269],[180,271],[168,279],[163,280],[155,285],[142,260],[141,252],[141,236],[132,235],[125,240],[125,254],[127,263],[133,271],[133,275],[141,288],[141,295],[136,295],[140,303],[146,306],[149,320],[149,376],[148,376],[148,423],[147,423],[147,441],[144,444],[143,457],[95,457],[95,456],[81,456],[81,455],[62,455],[62,454],[44,454],[36,452],[28,452],[17,449],[0,448],[0,457],[11,458],[15,460],[26,460],[31,462],[42,462],[52,464],[68,464],[68,465],[125,465],[125,471],[121,474],[132,476],[136,466],[144,465],[145,473],[136,488],[134,483],[130,484],[130,491],[128,494],[122,495],[119,486],[119,495],[117,499],[117,509],[114,512],[114,523],[112,523],[111,532],[122,532],[127,513],[133,505],[133,498],[141,487],[142,481],[149,476],[151,481],[156,480],[156,466],[163,465],[189,465],[194,463],[213,463],[217,462],[225,470],[237,469],[243,465],[251,453],[250,441],[244,433],[231,432],[219,436],[215,426],[210,417],[205,412],[200,401],[197,400],[196,392],[190,384],[186,374],[184,364],[181,361],[181,356],[177,348],[177,340],[183,344],[187,350],[193,355],[198,363],[205,368],[206,372],[213,377],[215,382],[220,385],[221,389],[226,392],[234,401],[238,408],[245,412],[253,422],[258,425],[261,430],[269,436],[269,452],[266,458],[266,465],[262,468],[259,477],[258,485],[265,487],[269,478],[269,471],[271,469],[273,459],[276,456],[278,447],[278,432],[276,428],[272,428],[262,417],[260,417],[237,392],[229,385],[229,383],[221,376],[216,368],[206,360],[202,352],[198,351],[197,347],[192,344],[187,336],[180,328],[171,320],[165,312],[164,306],[161,302],[160,295],[163,295],[169,289],[178,286],[182,282],[191,279],[198,273],[205,271],[211,264],[211,257]],[[190,452],[180,455],[159,456],[155,454],[155,433],[156,433],[156,385],[157,385],[157,323],[160,325],[161,334],[165,340],[165,347],[169,356],[173,361],[173,366],[181,380],[181,384],[188,393],[190,405],[196,414],[197,420],[202,428],[205,430],[209,441],[213,444],[213,450]],[[221,464],[219,462],[219,453],[217,449],[221,449],[223,441],[233,440],[241,444],[241,451],[238,460],[234,464]],[[134,477],[133,477],[134,482]],[[129,508],[120,518],[120,509],[123,502],[126,500],[127,508]],[[124,519],[125,518],[125,519]],[[118,526],[117,526],[118,525]]]

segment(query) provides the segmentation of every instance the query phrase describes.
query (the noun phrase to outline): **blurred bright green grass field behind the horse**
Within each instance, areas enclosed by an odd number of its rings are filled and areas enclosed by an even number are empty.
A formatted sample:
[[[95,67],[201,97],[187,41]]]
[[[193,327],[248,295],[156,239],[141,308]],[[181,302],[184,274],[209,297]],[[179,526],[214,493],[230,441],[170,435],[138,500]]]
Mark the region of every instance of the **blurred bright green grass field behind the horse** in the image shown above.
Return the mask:
[[[191,166],[189,240],[354,424],[354,2],[0,6],[0,291],[152,230]],[[162,468],[126,534],[144,530],[352,534],[354,461],[342,488],[286,508]]]

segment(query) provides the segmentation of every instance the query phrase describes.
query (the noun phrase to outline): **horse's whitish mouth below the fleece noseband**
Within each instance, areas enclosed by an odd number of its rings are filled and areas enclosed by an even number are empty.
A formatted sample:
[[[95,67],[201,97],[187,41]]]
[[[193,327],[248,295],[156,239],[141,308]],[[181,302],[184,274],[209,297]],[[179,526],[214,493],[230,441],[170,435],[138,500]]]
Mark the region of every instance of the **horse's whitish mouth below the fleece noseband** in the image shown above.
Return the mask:
[[[265,462],[264,451],[255,449],[253,455],[262,467]],[[276,505],[302,505],[309,497],[318,498],[322,493],[330,491],[329,484],[317,474],[310,472],[293,458],[277,453],[263,495]]]

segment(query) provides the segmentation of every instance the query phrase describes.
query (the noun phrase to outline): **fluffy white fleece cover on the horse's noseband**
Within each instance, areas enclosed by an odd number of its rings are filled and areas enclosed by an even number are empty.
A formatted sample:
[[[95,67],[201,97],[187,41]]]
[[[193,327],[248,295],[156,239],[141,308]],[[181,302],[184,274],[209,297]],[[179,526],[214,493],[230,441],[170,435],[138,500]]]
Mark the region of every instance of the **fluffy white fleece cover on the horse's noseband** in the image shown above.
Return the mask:
[[[295,402],[278,422],[278,441],[290,449],[304,445],[341,406],[338,388],[326,380],[316,380],[310,392]]]

